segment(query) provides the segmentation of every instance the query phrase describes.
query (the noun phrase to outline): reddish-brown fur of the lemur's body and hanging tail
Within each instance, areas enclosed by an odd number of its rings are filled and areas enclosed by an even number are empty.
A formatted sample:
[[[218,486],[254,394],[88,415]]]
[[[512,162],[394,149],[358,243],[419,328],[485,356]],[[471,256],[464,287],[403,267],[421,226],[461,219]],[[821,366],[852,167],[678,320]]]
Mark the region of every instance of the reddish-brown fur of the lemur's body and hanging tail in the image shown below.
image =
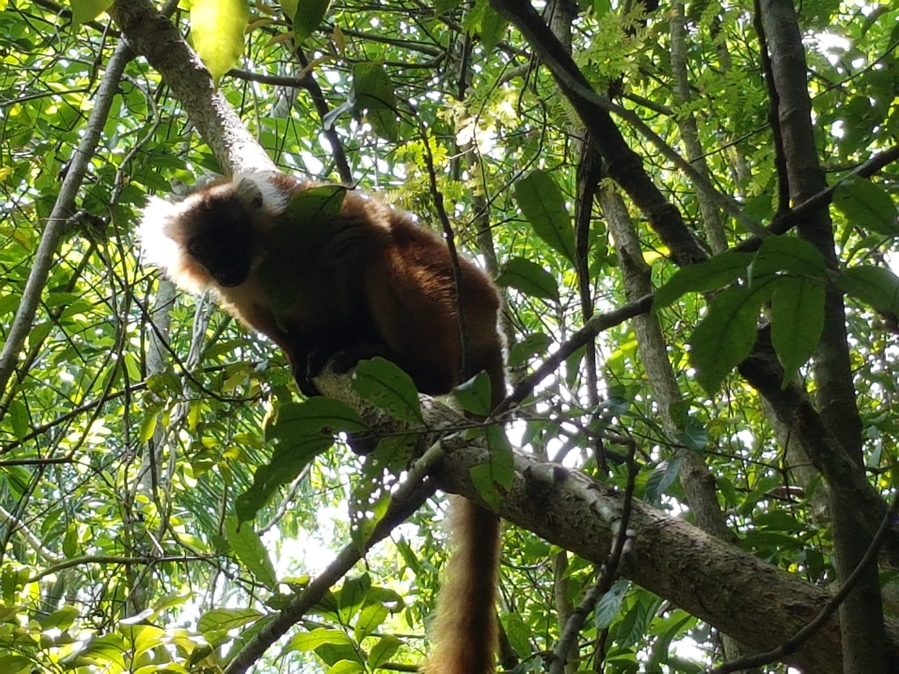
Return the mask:
[[[286,175],[265,180],[263,191],[285,196],[315,184]],[[223,183],[218,183],[205,188],[203,199],[211,191],[216,198],[234,199],[239,191],[235,188],[230,194],[222,187]],[[191,211],[191,217],[182,214],[177,224],[197,226],[197,218]],[[266,235],[273,221],[271,213],[254,216],[259,237],[252,253],[247,253],[254,258],[254,270],[271,253]],[[496,288],[484,271],[460,261],[469,351],[463,371],[449,250],[439,235],[416,226],[409,215],[348,192],[334,219],[333,235],[308,259],[296,262],[297,269],[289,270],[290,282],[301,288],[294,303],[278,315],[254,270],[232,288],[211,279],[184,250],[191,235],[180,230],[169,235],[181,244],[182,258],[179,264],[166,263],[170,275],[182,286],[215,289],[228,313],[268,335],[285,351],[304,391],[308,392],[304,386],[307,361],[343,351],[358,352],[362,357],[383,355],[403,368],[420,391],[432,395],[447,394],[486,370],[494,404],[503,399]],[[179,274],[187,278],[179,278]],[[432,628],[434,648],[425,671],[487,674],[495,670],[499,519],[459,497],[453,497],[452,510],[450,528],[456,552],[449,559],[447,579],[441,587]]]

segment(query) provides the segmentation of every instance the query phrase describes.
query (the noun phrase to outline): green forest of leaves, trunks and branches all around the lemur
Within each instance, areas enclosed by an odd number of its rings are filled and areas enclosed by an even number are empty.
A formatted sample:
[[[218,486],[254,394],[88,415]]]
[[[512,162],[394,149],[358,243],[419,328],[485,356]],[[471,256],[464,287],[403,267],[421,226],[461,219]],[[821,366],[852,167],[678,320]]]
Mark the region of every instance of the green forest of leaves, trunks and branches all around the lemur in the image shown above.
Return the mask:
[[[500,670],[899,671],[895,3],[0,10],[0,672],[417,671],[448,493]],[[142,259],[148,197],[276,169],[495,280],[492,417],[307,397]]]

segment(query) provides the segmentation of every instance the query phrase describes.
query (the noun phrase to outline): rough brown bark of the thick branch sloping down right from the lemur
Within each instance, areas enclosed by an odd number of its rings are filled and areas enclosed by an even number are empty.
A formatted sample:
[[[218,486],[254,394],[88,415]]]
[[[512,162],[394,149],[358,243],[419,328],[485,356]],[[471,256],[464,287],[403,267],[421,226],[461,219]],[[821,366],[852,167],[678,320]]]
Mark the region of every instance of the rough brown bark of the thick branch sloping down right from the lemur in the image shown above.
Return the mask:
[[[469,471],[486,460],[485,449],[454,451],[434,476],[443,489],[484,504]],[[515,461],[515,479],[497,510],[500,516],[601,563],[612,544],[610,525],[623,505],[621,494],[553,464],[521,455]],[[830,597],[682,519],[642,501],[633,506],[628,527],[636,530],[636,538],[622,575],[725,634],[739,634],[752,648],[775,648],[813,619]],[[889,652],[899,655],[895,625],[889,625],[887,643]],[[789,662],[815,674],[836,674],[842,671],[841,657],[839,627],[832,620]]]

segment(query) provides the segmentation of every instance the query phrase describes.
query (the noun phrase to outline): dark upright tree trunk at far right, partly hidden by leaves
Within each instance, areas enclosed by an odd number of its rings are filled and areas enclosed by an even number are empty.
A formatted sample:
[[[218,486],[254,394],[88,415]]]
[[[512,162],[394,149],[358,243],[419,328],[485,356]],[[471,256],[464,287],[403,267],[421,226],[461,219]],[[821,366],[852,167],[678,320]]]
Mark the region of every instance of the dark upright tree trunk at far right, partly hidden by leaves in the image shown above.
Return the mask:
[[[806,53],[797,14],[790,0],[761,0],[761,24],[770,49],[771,74],[779,95],[779,127],[787,164],[789,194],[801,203],[827,187],[818,161],[812,127],[812,101],[808,95]],[[830,211],[819,208],[797,226],[799,236],[811,242],[836,266]],[[852,380],[845,307],[841,293],[828,288],[824,298],[824,327],[814,354],[814,383],[818,411],[842,452],[864,471],[861,418]],[[833,547],[837,577],[845,582],[871,542],[870,532],[859,526],[860,493],[850,484],[831,483]],[[883,607],[877,565],[870,565],[858,587],[840,606],[843,667],[850,672],[886,672]]]

